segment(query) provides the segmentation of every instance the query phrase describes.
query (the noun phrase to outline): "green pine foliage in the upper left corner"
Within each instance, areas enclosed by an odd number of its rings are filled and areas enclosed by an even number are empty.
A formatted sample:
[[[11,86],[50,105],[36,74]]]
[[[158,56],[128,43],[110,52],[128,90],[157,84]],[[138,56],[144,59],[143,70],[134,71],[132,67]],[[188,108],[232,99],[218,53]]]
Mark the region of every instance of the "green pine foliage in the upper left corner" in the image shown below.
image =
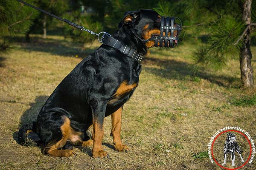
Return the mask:
[[[32,3],[32,0],[27,0]],[[33,3],[32,3],[33,4]],[[32,20],[38,16],[38,11],[17,1],[0,1],[0,51],[8,47],[8,37],[24,34],[32,25]]]

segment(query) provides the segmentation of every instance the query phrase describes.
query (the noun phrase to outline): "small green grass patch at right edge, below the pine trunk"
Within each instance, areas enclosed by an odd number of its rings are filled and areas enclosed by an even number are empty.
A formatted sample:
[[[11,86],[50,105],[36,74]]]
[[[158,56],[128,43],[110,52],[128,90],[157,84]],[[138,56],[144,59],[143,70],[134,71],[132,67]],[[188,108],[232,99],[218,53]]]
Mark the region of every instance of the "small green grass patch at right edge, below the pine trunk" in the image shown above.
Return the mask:
[[[241,96],[240,98],[231,99],[230,103],[235,106],[253,106],[256,105],[256,95],[253,96]]]

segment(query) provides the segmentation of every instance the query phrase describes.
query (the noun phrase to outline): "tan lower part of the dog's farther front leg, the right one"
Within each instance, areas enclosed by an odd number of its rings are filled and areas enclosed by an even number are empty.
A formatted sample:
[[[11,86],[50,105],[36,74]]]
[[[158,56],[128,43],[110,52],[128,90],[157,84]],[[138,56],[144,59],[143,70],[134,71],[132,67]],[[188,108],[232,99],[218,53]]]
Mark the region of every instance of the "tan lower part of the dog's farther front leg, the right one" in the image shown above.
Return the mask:
[[[122,107],[119,108],[116,112],[111,114],[112,119],[112,130],[111,135],[113,136],[113,144],[115,150],[119,152],[129,151],[129,148],[124,145],[121,141],[121,120],[122,120]]]

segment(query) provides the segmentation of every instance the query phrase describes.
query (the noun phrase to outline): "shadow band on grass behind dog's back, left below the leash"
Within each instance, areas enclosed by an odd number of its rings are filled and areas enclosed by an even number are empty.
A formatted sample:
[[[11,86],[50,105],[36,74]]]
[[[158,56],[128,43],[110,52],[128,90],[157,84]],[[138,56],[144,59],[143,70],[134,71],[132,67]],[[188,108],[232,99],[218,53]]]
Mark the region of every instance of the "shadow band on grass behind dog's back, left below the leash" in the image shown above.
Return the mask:
[[[19,44],[21,46],[20,48],[27,51],[40,51],[64,57],[73,57],[78,55],[79,57],[85,58],[87,55],[93,53],[97,48],[89,47],[81,50],[81,44],[79,45],[66,39],[44,39],[42,37],[31,37],[30,42],[26,42],[23,37],[14,37],[10,39],[10,41]]]

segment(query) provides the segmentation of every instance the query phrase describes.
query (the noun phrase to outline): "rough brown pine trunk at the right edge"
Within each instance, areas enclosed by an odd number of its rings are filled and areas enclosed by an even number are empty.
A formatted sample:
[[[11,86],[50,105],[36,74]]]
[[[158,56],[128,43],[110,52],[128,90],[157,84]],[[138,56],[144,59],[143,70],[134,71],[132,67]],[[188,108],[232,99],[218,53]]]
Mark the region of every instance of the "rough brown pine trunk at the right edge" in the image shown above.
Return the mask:
[[[243,21],[246,25],[251,23],[251,3],[252,0],[245,0]],[[252,53],[250,51],[250,28],[247,30],[240,48],[240,71],[241,86],[253,87],[253,68],[251,65]]]

